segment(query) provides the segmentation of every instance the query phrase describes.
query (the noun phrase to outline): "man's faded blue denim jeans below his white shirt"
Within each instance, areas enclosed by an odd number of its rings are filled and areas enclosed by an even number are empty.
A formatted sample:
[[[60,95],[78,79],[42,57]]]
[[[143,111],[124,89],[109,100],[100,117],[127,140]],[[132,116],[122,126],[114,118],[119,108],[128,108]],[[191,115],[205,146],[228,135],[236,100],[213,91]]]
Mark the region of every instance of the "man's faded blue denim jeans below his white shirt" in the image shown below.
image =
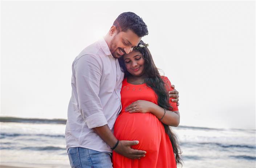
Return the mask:
[[[72,168],[113,168],[110,152],[70,147],[68,157]]]

